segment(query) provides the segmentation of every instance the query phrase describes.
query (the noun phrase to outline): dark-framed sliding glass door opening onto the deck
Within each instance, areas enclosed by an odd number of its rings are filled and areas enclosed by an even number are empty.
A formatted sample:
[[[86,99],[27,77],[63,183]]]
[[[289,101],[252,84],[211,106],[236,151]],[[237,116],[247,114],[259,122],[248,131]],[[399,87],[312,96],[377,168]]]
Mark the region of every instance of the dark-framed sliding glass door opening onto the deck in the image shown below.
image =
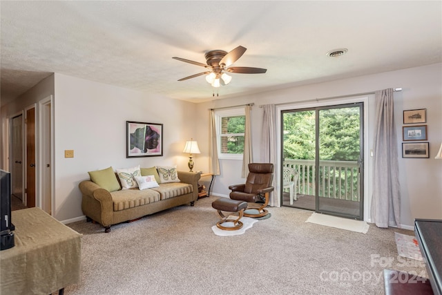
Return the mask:
[[[362,220],[363,103],[282,111],[281,127],[282,205]]]

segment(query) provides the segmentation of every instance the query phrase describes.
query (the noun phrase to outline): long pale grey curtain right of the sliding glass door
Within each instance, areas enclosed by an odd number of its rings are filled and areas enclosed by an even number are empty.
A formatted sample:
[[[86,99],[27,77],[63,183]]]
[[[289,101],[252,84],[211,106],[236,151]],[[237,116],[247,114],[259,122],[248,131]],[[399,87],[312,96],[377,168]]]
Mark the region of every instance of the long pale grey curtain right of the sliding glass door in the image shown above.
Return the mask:
[[[377,227],[400,227],[401,193],[398,182],[398,146],[393,115],[393,89],[376,91],[375,101],[372,221]]]

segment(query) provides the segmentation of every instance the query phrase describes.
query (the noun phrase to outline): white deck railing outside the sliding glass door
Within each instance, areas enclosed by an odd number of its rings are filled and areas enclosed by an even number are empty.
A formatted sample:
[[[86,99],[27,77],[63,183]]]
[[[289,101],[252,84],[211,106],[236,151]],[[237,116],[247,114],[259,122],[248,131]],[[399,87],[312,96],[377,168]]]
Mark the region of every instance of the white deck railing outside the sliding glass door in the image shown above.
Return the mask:
[[[316,196],[315,161],[286,159],[283,166],[298,172],[296,192]],[[361,173],[355,161],[319,161],[319,196],[359,201]]]

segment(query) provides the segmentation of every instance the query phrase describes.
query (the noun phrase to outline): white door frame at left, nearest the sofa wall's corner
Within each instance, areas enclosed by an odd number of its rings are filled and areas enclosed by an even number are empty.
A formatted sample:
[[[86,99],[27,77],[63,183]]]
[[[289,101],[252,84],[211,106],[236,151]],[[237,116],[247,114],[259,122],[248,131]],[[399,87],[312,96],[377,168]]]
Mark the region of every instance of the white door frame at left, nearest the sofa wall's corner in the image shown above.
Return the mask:
[[[55,182],[54,182],[54,176],[55,176],[55,165],[54,165],[54,95],[48,95],[44,99],[39,100],[38,102],[38,115],[37,120],[39,122],[38,127],[38,143],[36,142],[36,146],[38,146],[39,153],[37,153],[38,157],[38,171],[39,176],[36,179],[36,182],[39,183],[38,187],[38,202],[36,200],[36,204],[38,204],[38,207],[41,209],[45,209],[43,207],[43,189],[44,189],[44,142],[46,142],[46,132],[44,130],[44,107],[50,104],[50,215],[54,216],[55,210]]]

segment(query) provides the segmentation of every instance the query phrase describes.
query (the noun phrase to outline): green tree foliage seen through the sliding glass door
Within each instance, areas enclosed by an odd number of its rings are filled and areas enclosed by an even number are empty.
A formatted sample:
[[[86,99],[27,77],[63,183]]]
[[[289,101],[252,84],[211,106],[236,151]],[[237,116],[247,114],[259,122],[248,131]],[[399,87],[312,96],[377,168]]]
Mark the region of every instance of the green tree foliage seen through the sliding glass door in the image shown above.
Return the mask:
[[[358,161],[360,157],[360,108],[356,106],[320,109],[318,114],[320,160]],[[284,113],[283,128],[283,157],[285,160],[314,160],[316,158],[315,110]],[[309,175],[305,175],[306,181],[311,185],[314,182],[313,174],[311,170]],[[322,175],[321,172],[320,180],[322,180]],[[341,191],[344,196],[339,196],[339,198],[348,200],[355,196],[358,187],[358,173],[354,173],[352,179],[345,179],[343,170],[339,168],[326,169],[325,178],[336,180],[336,183],[331,182],[330,188],[326,188],[326,190]],[[338,178],[341,180],[340,190]],[[345,191],[347,181],[353,182],[355,191],[348,191],[349,189]],[[320,191],[319,196],[325,196],[325,192]]]

